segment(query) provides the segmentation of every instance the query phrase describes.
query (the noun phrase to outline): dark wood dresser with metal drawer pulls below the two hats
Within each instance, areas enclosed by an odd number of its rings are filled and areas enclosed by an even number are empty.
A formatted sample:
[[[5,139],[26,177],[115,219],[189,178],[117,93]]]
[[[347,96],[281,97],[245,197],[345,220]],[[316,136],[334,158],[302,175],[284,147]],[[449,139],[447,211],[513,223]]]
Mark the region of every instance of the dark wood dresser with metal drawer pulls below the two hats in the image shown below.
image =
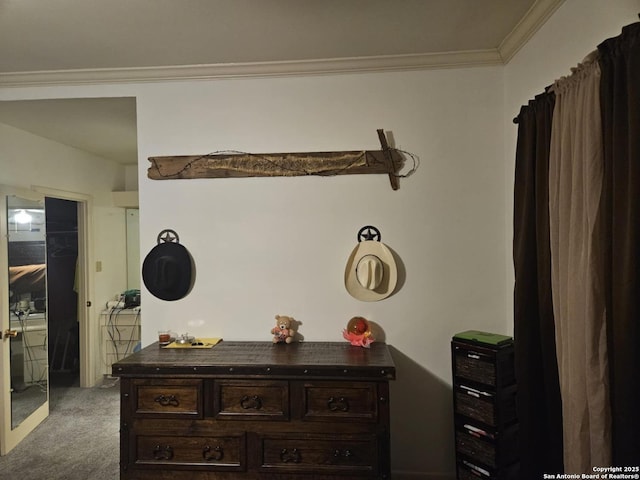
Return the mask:
[[[155,343],[112,373],[121,479],[390,478],[384,343]]]

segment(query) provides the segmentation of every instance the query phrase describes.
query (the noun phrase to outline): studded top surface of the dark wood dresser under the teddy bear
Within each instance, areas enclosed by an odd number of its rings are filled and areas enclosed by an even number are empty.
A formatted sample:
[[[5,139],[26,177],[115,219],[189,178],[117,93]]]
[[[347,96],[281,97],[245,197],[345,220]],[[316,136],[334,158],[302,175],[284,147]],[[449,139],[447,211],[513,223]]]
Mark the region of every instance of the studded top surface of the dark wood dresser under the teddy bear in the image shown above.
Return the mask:
[[[159,348],[151,344],[113,364],[113,375],[300,376],[394,379],[395,365],[388,346],[370,348],[346,342],[222,341],[212,348]]]

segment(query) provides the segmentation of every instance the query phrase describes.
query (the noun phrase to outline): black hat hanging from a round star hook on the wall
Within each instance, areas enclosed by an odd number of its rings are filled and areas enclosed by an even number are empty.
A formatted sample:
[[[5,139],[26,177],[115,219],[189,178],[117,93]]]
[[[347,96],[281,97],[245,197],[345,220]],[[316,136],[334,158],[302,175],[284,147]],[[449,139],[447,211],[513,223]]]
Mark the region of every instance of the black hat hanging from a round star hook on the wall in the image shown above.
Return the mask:
[[[178,234],[163,230],[158,245],[142,263],[142,280],[147,290],[161,300],[180,300],[193,288],[195,268],[188,250],[179,243]]]

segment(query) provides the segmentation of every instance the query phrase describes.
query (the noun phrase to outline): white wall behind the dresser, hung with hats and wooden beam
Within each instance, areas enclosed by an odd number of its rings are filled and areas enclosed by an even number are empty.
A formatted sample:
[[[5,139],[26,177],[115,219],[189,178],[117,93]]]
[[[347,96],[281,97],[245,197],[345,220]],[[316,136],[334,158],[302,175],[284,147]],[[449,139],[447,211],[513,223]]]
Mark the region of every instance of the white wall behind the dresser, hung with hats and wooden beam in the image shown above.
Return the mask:
[[[170,83],[138,95],[144,256],[172,228],[195,286],[164,302],[143,290],[143,344],[159,328],[270,340],[275,314],[305,340],[342,341],[354,315],[393,346],[393,469],[452,472],[451,336],[505,326],[502,68]],[[420,157],[385,175],[150,180],[150,156],[379,149],[377,128]],[[406,278],[377,303],[346,292],[356,233],[372,224]]]

